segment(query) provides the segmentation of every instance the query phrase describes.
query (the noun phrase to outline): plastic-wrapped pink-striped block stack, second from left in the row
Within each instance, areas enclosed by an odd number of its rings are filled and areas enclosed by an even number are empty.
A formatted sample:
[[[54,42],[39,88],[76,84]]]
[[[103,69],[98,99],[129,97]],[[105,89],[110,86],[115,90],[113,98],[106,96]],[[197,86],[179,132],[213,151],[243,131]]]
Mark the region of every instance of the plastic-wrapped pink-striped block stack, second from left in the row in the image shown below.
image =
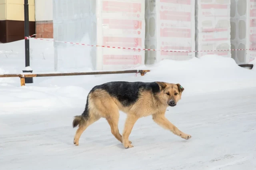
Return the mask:
[[[195,50],[194,0],[145,0],[146,49]],[[146,51],[145,64],[187,60],[194,53]]]

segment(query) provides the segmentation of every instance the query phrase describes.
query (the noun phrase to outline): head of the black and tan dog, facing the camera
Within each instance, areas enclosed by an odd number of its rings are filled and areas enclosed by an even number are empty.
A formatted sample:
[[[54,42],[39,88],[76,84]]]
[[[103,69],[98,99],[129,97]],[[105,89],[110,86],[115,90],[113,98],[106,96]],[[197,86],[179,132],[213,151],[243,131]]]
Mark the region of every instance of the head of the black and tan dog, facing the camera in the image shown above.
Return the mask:
[[[166,82],[156,82],[160,88],[159,99],[163,104],[176,106],[181,99],[184,88],[180,84],[171,84]]]

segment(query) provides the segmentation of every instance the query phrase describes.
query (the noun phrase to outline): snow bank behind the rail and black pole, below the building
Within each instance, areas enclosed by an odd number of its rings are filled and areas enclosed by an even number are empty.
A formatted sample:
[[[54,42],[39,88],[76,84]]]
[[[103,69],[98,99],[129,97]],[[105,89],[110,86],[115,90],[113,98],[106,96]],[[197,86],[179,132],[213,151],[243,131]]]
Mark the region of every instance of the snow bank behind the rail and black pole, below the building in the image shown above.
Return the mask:
[[[24,40],[0,44],[0,51],[0,68],[13,74],[25,69]],[[53,42],[30,39],[30,66],[33,72],[54,71],[53,62]]]

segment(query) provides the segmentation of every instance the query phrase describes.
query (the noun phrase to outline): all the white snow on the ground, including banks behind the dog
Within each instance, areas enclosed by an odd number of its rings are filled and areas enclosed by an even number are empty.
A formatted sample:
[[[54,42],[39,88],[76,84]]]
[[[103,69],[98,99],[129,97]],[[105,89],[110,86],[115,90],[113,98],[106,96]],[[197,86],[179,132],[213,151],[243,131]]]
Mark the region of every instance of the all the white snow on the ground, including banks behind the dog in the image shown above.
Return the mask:
[[[53,43],[31,39],[30,47],[33,71],[52,72]],[[23,48],[24,41],[0,44],[0,74],[22,72]],[[0,78],[0,169],[256,169],[255,68],[217,56],[140,68],[151,72],[40,77],[23,87],[19,78]],[[72,119],[82,113],[89,90],[118,80],[180,83],[185,88],[182,100],[168,108],[166,117],[192,138],[181,139],[145,117],[130,135],[134,147],[124,149],[100,119],[74,146]],[[121,113],[120,133],[125,118]]]

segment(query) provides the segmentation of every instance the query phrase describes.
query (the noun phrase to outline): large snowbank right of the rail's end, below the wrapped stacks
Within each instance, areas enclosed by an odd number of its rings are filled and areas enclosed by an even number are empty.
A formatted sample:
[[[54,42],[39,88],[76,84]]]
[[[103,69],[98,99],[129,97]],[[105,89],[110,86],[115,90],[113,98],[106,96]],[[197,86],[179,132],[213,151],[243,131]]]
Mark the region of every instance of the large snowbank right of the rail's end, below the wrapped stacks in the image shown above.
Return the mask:
[[[256,74],[234,59],[205,55],[188,61],[164,60],[150,66],[142,80],[180,83],[188,95],[256,87]]]

